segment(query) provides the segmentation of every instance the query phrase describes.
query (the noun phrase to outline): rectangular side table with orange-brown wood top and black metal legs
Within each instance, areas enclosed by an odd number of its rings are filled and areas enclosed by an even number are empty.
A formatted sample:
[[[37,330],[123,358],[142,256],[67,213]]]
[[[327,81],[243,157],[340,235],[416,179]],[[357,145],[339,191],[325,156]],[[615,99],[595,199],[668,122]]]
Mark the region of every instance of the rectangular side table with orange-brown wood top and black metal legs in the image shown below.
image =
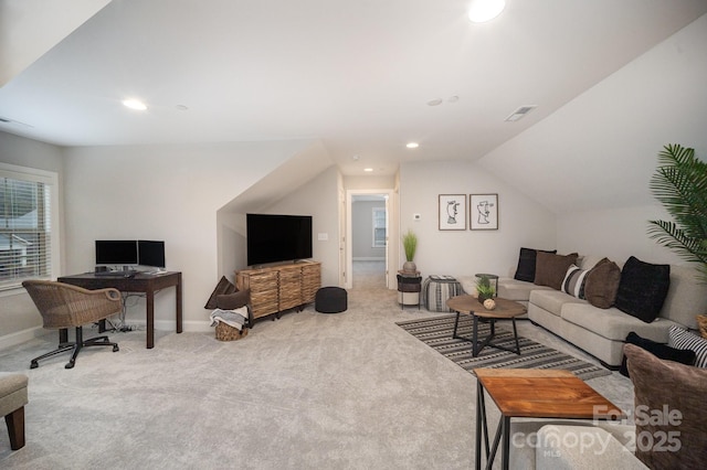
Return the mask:
[[[482,468],[482,435],[486,468],[490,468],[503,436],[500,462],[508,469],[510,418],[624,419],[626,415],[569,371],[535,368],[474,368],[476,391],[476,469]],[[493,449],[484,389],[500,410]]]

